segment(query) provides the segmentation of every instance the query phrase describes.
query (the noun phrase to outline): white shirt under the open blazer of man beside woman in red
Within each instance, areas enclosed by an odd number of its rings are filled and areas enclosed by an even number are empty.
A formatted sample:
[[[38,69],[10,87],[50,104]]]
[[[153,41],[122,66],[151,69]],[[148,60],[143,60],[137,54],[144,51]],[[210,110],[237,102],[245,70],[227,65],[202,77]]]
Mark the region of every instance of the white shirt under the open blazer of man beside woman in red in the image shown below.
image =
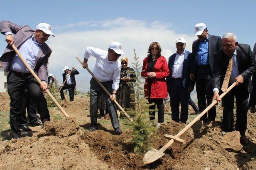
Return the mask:
[[[182,54],[178,54],[176,52],[176,57],[174,59],[174,64],[172,68],[172,78],[182,78],[183,61],[184,52]]]

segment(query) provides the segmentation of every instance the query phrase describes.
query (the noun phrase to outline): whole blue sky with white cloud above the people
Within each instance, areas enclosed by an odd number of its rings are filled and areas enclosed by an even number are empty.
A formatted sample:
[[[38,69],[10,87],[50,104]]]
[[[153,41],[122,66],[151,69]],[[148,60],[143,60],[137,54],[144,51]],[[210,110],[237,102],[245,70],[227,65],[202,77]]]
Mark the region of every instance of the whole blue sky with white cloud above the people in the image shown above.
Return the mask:
[[[81,90],[88,90],[85,83],[90,75],[74,56],[82,58],[87,46],[107,49],[110,42],[119,41],[124,56],[131,59],[136,48],[142,60],[148,45],[158,41],[168,58],[176,51],[174,41],[180,36],[191,51],[194,25],[199,22],[206,23],[212,35],[233,32],[238,43],[251,48],[256,42],[255,0],[9,0],[1,4],[1,20],[32,28],[40,22],[52,25],[56,37],[47,42],[53,50],[49,70],[60,79],[63,66],[76,66],[81,70],[76,78]],[[0,53],[5,46],[2,35]],[[95,60],[89,62],[93,70]]]

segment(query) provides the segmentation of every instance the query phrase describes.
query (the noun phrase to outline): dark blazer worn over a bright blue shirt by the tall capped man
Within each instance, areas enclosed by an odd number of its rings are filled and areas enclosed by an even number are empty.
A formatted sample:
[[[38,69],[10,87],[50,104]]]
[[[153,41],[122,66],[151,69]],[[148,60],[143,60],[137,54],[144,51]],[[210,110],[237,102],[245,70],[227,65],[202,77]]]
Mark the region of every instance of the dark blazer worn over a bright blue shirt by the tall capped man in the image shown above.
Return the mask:
[[[208,58],[211,70],[213,69],[213,54],[222,48],[222,40],[219,36],[208,34]],[[192,45],[192,61],[190,74],[196,76],[196,63],[197,63],[197,52],[200,40],[197,39]]]

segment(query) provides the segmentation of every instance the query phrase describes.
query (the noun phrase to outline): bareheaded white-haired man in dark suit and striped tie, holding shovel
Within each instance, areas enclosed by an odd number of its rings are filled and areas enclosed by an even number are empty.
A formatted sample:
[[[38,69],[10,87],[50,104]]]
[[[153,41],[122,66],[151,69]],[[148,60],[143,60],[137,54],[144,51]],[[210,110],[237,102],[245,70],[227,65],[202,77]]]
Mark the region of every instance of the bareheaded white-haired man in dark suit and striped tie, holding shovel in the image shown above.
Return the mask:
[[[230,65],[232,62],[232,65]],[[230,63],[230,64],[229,64]],[[227,68],[232,71],[229,79]],[[227,72],[227,73],[226,73]],[[226,33],[222,37],[222,49],[214,54],[212,86],[214,87],[213,101],[220,102],[219,92],[226,91],[223,84],[230,86],[236,82],[236,86],[224,96],[223,124],[224,131],[234,131],[234,97],[236,96],[236,131],[240,131],[240,141],[248,143],[245,137],[248,111],[248,98],[252,92],[252,74],[256,73],[256,62],[249,45],[238,44],[236,35]],[[224,78],[225,82],[224,83]],[[229,82],[229,83],[228,83]],[[222,89],[222,90],[221,90]]]

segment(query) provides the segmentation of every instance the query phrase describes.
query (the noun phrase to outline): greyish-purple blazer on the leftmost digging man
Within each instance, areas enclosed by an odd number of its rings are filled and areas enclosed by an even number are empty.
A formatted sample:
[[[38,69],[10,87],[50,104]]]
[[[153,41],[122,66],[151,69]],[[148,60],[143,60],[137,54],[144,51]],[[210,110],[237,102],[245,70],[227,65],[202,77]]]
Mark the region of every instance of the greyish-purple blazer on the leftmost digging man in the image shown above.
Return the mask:
[[[1,21],[0,22],[1,33],[4,34],[5,32],[12,32],[15,34],[14,36],[14,45],[17,49],[20,47],[28,37],[34,34],[34,30],[28,27],[28,25],[20,26],[12,23],[10,21]],[[12,57],[14,55],[14,50],[12,47],[7,45],[6,49],[4,50],[3,55],[0,57],[0,62],[4,68],[4,70],[10,70],[10,64],[12,62]],[[48,58],[50,57],[52,50],[46,43],[41,45],[41,49],[36,56],[36,60],[34,63],[34,72],[38,75],[40,80],[47,82],[48,72],[47,72],[47,63]]]

